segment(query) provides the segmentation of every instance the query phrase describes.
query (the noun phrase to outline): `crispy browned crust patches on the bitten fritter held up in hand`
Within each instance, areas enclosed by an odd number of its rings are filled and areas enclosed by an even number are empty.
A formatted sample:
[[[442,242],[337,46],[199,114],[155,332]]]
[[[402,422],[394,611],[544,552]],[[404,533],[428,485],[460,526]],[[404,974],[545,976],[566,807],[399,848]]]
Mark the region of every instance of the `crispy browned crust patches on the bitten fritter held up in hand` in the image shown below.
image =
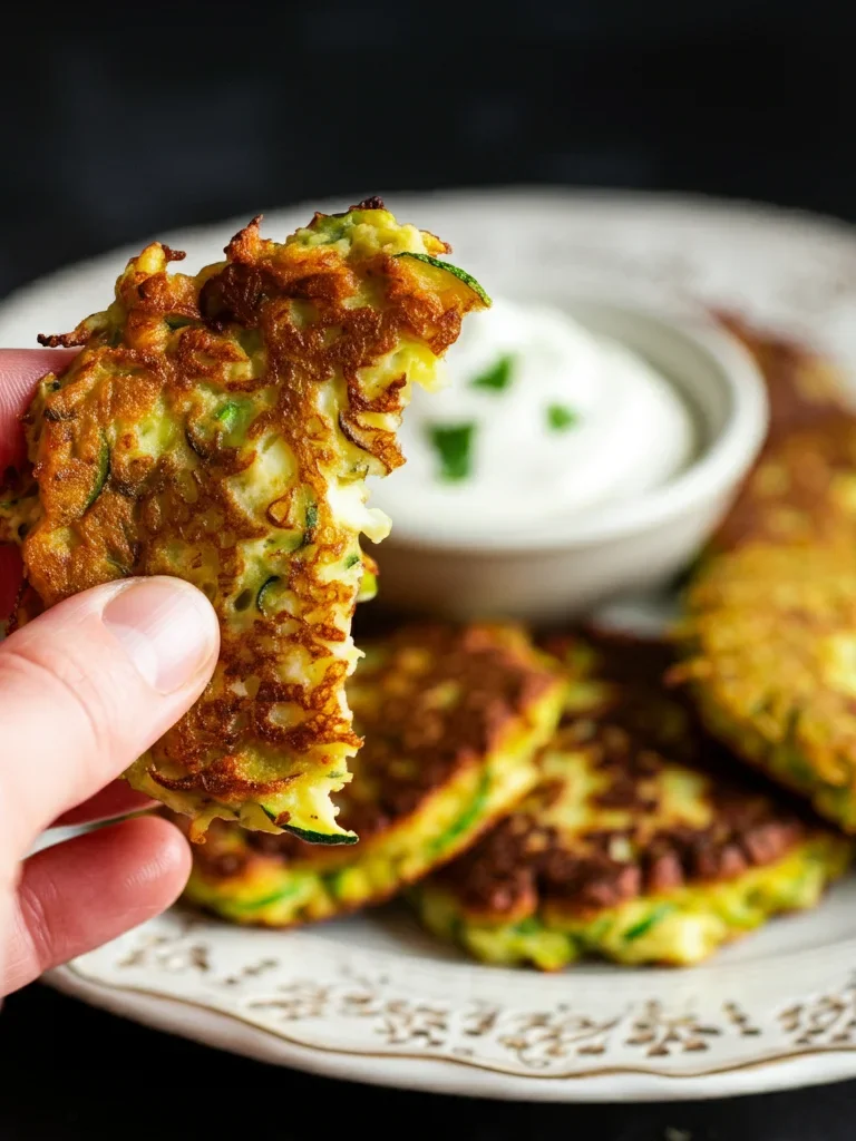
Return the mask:
[[[377,208],[374,200],[368,203],[366,209]],[[410,259],[379,253],[355,267],[323,246],[264,240],[259,220],[232,238],[223,265],[196,277],[147,272],[140,268],[143,258],[132,262],[110,314],[88,318],[72,333],[40,338],[45,345],[84,347],[26,418],[41,518],[25,539],[24,561],[31,591],[43,606],[127,575],[181,573],[164,553],[170,539],[197,549],[200,560],[210,563],[221,625],[217,677],[231,685],[209,687],[154,746],[152,777],[164,788],[231,806],[283,786],[282,779],[253,780],[242,772],[253,742],[296,758],[316,746],[360,745],[337,696],[347,666],[331,644],[341,644],[346,633],[330,621],[336,610],[353,610],[356,594],[352,585],[320,573],[322,564],[346,551],[324,495],[323,468],[336,459],[332,435],[312,428],[309,394],[341,374],[349,397],[342,414],[347,438],[391,470],[403,462],[395,434],[372,420],[379,411],[402,410],[404,378],[369,399],[360,370],[388,354],[402,334],[441,355],[458,337],[466,310],[451,293],[441,299],[420,288]],[[184,257],[156,243],[151,249],[160,249],[167,261]],[[365,278],[377,283],[380,304],[352,306]],[[292,302],[310,306],[313,319],[298,319]],[[241,334],[253,330],[264,339],[266,370],[255,379],[231,380],[231,366],[247,361]],[[260,539],[265,531],[240,509],[226,485],[248,467],[251,453],[226,446],[220,436],[201,438],[192,411],[186,411],[203,382],[224,393],[274,391],[273,405],[253,420],[249,447],[263,431],[275,431],[294,456],[294,483],[316,497],[316,523],[299,557],[289,563],[285,584],[297,599],[297,616],[288,626],[280,616],[259,614],[249,630],[235,634],[229,629],[226,599],[242,570],[236,544]],[[119,439],[104,487],[88,502],[106,429],[139,424],[159,402],[184,410],[178,415],[186,418],[187,443],[199,462],[191,471],[169,454],[156,462],[131,456],[132,442],[123,450]],[[300,509],[289,492],[272,504],[268,523],[293,526]],[[27,615],[19,608],[14,624]],[[321,683],[282,685],[276,664],[292,654],[324,663]],[[252,693],[235,695],[233,682],[250,683]],[[299,711],[288,725],[275,715],[281,703]]]

